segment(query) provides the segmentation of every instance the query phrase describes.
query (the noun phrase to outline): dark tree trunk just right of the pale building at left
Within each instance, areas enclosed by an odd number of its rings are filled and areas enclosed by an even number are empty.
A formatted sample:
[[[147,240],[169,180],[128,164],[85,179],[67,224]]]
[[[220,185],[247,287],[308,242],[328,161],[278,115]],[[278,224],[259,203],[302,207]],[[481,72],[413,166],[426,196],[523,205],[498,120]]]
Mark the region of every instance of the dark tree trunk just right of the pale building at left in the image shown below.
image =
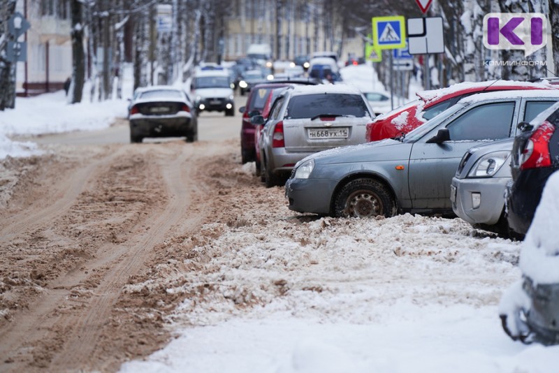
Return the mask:
[[[68,97],[70,103],[82,101],[83,83],[85,79],[85,53],[83,49],[83,17],[82,1],[72,0],[72,82]]]

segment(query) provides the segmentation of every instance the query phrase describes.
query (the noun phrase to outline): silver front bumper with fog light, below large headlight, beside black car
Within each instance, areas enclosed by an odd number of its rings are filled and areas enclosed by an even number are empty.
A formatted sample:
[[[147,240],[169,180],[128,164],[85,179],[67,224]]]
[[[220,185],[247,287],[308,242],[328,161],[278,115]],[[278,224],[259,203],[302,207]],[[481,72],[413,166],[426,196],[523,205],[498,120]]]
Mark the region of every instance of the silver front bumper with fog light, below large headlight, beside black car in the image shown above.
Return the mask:
[[[451,182],[453,212],[470,224],[497,224],[504,207],[504,189],[510,177],[457,179]],[[456,198],[453,198],[456,196]],[[474,201],[479,200],[479,204]]]

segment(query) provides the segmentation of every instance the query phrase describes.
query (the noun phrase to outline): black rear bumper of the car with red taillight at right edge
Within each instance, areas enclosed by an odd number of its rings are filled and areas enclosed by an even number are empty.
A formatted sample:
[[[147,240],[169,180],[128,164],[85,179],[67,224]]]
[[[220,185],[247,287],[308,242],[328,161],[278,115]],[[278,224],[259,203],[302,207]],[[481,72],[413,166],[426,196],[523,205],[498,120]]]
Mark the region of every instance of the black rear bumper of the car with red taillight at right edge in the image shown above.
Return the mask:
[[[523,170],[515,182],[507,183],[507,221],[516,233],[525,235],[528,232],[542,198],[544,185],[553,171],[553,168]]]

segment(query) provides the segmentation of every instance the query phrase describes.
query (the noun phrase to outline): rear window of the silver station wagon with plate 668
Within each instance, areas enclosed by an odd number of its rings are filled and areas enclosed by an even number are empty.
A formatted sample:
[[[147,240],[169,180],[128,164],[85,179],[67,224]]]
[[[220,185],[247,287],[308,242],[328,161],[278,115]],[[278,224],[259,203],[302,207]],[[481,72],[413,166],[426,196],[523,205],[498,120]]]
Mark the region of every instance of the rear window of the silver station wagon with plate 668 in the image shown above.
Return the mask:
[[[288,119],[312,118],[317,115],[352,115],[370,117],[359,94],[305,94],[293,96],[287,105]]]

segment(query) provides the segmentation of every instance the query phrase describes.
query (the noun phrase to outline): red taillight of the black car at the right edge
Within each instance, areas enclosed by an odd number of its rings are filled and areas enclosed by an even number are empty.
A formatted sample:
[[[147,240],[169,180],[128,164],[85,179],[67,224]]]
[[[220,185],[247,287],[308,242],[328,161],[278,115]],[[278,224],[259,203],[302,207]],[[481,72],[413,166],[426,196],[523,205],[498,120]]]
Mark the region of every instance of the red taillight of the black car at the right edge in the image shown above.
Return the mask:
[[[532,133],[521,153],[521,170],[551,166],[549,139],[553,132],[555,132],[555,126],[545,121]]]

